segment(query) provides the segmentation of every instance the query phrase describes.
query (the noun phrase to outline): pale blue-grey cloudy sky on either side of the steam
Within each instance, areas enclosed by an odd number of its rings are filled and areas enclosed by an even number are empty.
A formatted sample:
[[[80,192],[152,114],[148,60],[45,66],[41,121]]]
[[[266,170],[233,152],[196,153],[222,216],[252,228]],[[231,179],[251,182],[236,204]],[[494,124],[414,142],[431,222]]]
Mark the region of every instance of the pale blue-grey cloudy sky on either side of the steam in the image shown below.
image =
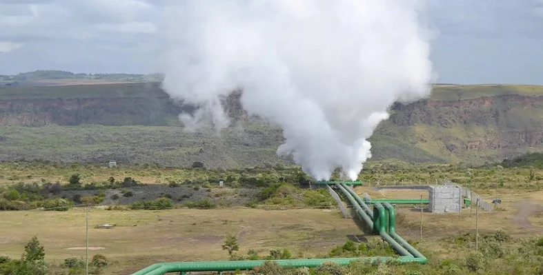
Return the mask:
[[[0,74],[159,72],[171,1],[0,0]],[[437,82],[543,84],[543,0],[427,3]]]

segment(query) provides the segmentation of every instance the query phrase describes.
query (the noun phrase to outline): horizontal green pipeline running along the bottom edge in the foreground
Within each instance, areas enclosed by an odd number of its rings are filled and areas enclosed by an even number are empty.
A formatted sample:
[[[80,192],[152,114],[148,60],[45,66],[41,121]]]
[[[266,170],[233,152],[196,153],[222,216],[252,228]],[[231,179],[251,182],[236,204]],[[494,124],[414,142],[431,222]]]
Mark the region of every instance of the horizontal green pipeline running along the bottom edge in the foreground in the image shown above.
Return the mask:
[[[315,258],[299,260],[275,260],[282,267],[318,267],[325,262],[335,262],[339,265],[348,265],[353,261],[364,263],[384,263],[397,261],[399,263],[420,263],[419,259],[413,256],[400,257],[367,257],[367,258]],[[265,261],[217,261],[217,262],[182,262],[182,263],[156,263],[145,269],[132,273],[132,275],[164,275],[168,272],[202,272],[202,271],[235,271],[250,270],[263,265]]]

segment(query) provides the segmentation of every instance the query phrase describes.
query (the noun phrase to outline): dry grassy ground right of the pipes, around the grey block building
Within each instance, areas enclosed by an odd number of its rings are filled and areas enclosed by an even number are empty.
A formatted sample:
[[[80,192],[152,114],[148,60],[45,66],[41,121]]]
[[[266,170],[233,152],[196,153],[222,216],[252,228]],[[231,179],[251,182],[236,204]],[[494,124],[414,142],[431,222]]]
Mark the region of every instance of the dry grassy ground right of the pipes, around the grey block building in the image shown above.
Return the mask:
[[[421,195],[423,198],[428,198],[428,192],[419,190],[382,190],[379,192],[374,187],[357,187],[355,190],[360,195],[367,193],[372,198],[420,198]],[[488,201],[495,198],[495,190],[475,191]],[[498,197],[502,199],[502,204],[495,205],[494,212],[479,211],[480,234],[492,233],[498,228],[506,230],[514,238],[526,238],[543,233],[543,230],[522,227],[517,221],[514,221],[515,215],[523,207],[522,203],[531,202],[543,205],[543,192],[499,189]],[[397,230],[408,240],[419,240],[421,220],[419,209],[413,205],[403,205],[398,211]],[[433,256],[439,258],[455,258],[458,255],[453,255],[451,253],[454,251],[440,247],[439,241],[442,238],[460,234],[475,234],[476,213],[475,207],[471,210],[464,208],[462,213],[432,214],[423,212],[423,242],[419,244],[419,247],[431,251]],[[543,214],[534,214],[528,218],[528,221],[533,227],[543,228]]]

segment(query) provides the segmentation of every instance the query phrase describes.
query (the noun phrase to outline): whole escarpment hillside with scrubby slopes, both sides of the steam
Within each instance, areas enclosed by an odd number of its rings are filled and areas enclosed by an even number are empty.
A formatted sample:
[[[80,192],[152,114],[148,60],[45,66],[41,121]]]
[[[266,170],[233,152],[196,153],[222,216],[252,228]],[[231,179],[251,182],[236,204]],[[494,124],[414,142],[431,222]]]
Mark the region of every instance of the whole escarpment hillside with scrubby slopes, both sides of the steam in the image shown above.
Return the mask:
[[[240,94],[224,99],[244,127],[188,134],[158,83],[0,89],[0,160],[109,161],[208,167],[275,165],[281,130],[248,122]],[[92,125],[90,125],[92,124]],[[122,126],[122,127],[118,127]],[[543,86],[435,85],[395,103],[372,136],[373,159],[483,164],[543,148]]]

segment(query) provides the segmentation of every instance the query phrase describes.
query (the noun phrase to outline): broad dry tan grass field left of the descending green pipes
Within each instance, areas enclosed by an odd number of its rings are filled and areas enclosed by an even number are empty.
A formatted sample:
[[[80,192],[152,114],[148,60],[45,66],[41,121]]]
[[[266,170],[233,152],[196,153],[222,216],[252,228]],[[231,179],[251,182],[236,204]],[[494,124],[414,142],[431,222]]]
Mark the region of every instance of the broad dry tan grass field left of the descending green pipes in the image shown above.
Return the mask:
[[[52,263],[85,255],[85,210],[68,212],[0,212],[2,253],[19,257],[24,244],[37,236]],[[113,229],[95,225],[116,224]],[[360,230],[335,210],[107,211],[91,210],[90,255],[116,261],[106,274],[128,274],[161,261],[224,260],[221,249],[228,232],[237,233],[240,253],[288,248],[293,255],[315,255],[344,243]],[[99,249],[103,247],[103,249]]]

